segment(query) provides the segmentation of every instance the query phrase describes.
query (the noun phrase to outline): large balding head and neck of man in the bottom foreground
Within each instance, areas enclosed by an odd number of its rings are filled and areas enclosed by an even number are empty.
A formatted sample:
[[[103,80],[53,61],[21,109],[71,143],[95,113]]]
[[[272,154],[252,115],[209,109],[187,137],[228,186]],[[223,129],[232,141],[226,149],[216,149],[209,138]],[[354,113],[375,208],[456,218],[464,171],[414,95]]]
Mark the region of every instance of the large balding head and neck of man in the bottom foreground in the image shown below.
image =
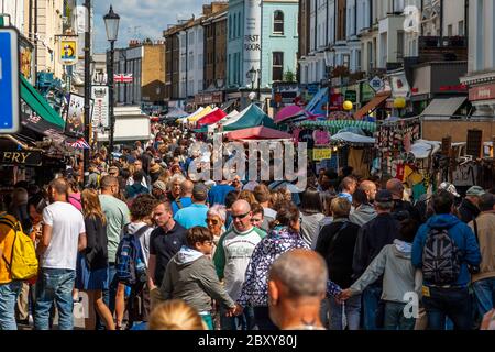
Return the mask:
[[[323,330],[320,305],[326,296],[328,270],[314,251],[282,254],[268,274],[270,318],[282,330]]]

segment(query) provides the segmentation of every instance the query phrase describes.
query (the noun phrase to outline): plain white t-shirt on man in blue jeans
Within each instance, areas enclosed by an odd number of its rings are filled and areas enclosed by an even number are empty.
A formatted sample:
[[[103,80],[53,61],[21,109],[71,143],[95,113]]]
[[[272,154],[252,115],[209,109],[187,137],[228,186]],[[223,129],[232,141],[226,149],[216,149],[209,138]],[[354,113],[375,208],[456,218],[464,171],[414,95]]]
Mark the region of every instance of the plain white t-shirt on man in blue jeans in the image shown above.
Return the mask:
[[[69,202],[56,201],[43,210],[43,221],[53,230],[41,267],[75,271],[79,234],[86,233],[82,213]]]

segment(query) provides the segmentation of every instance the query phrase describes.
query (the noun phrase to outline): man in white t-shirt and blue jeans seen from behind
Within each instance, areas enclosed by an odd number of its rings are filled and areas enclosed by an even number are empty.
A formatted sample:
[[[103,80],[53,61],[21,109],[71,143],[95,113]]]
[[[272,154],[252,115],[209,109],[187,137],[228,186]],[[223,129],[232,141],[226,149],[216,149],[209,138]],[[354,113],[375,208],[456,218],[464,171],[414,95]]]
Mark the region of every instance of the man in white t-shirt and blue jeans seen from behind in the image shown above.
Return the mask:
[[[74,328],[73,288],[77,252],[86,248],[86,227],[82,213],[67,202],[67,188],[63,178],[53,180],[48,189],[52,204],[43,210],[43,234],[37,244],[41,270],[36,283],[36,330],[48,330],[54,300],[59,329]]]

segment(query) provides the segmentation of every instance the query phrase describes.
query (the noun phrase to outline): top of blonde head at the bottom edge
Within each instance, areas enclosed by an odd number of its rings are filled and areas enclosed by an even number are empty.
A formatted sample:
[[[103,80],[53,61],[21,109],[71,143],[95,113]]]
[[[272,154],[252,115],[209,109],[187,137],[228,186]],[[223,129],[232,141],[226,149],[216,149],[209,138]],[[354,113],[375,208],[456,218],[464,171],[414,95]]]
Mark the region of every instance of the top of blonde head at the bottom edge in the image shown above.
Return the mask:
[[[208,330],[198,312],[182,299],[157,305],[147,326],[150,330]]]

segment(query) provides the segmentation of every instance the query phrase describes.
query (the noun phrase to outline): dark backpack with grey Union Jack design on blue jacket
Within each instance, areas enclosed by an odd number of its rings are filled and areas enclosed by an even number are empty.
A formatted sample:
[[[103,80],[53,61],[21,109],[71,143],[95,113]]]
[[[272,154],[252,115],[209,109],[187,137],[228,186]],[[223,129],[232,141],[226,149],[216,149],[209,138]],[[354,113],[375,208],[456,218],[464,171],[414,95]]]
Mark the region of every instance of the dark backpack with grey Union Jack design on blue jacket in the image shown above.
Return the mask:
[[[422,249],[424,278],[433,285],[449,285],[455,283],[460,272],[461,252],[449,230],[431,228]]]

